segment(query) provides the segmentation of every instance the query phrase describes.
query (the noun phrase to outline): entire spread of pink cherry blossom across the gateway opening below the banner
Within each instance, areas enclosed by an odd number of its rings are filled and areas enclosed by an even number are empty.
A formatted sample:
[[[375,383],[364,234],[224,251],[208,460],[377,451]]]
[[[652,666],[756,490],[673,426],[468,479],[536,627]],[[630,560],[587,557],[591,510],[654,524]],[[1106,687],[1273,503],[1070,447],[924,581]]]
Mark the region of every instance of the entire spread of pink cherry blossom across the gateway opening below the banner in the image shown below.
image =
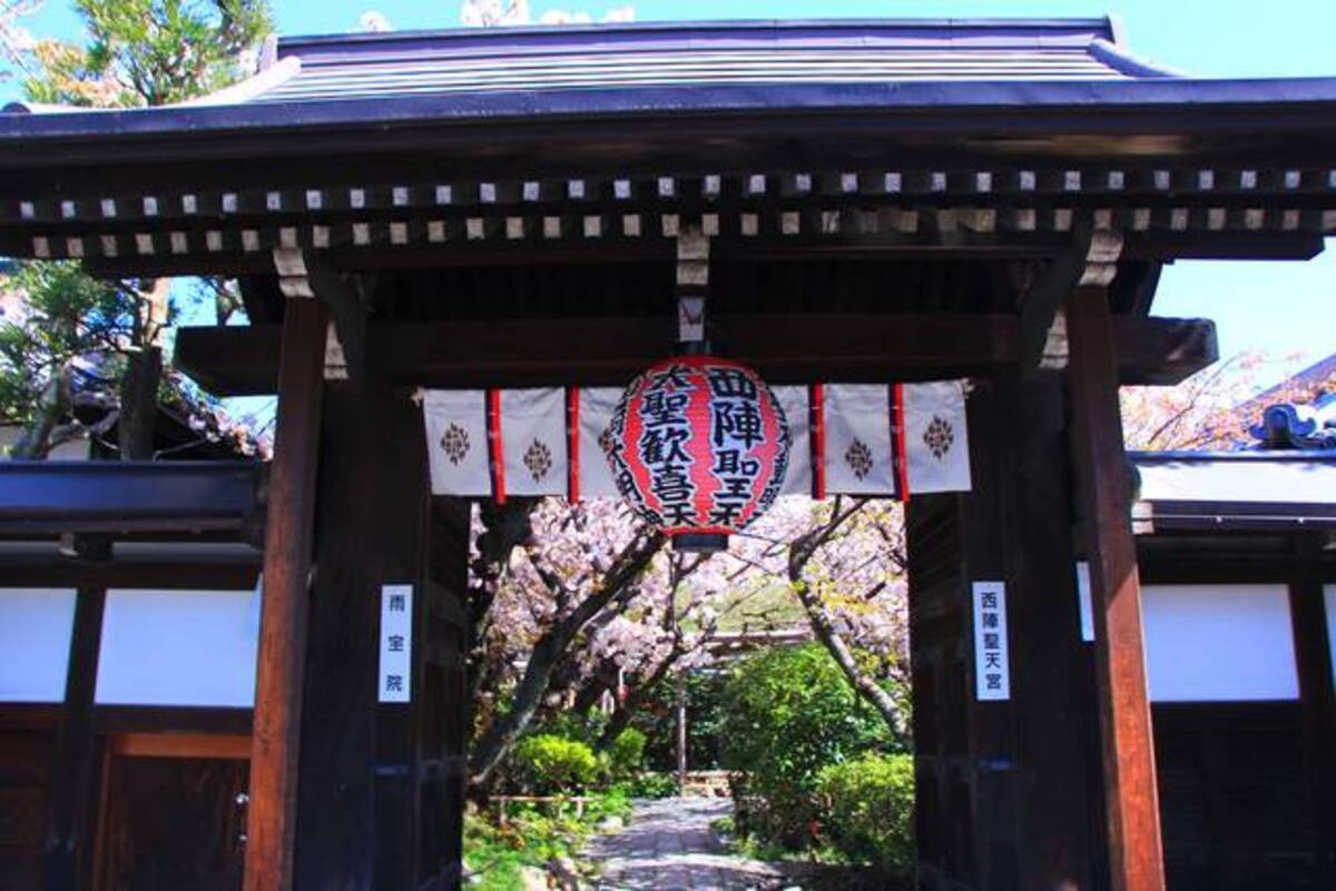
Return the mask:
[[[786,499],[729,551],[683,555],[620,502],[482,506],[470,591],[474,783],[486,786],[544,711],[605,692],[611,742],[667,678],[708,664],[720,627],[768,624],[748,604],[776,588],[896,734],[903,695],[903,540],[898,507]],[[744,628],[747,624],[744,624]]]

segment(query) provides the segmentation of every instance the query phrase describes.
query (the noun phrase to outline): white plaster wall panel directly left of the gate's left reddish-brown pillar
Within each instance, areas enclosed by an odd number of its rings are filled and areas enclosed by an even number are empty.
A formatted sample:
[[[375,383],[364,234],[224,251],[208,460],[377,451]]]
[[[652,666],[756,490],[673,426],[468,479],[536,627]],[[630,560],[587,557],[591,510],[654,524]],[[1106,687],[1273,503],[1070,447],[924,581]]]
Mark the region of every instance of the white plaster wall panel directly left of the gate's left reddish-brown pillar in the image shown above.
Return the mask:
[[[250,707],[258,642],[254,591],[111,590],[98,702]]]

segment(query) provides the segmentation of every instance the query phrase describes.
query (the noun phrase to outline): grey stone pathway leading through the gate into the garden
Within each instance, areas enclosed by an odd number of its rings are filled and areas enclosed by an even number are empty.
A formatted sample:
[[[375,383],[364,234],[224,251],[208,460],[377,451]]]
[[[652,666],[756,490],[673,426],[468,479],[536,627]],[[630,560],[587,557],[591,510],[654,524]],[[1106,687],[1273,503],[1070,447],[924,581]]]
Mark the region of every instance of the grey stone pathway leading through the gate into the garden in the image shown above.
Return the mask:
[[[631,824],[593,840],[585,860],[600,864],[600,891],[720,891],[790,887],[770,863],[735,856],[709,831],[733,812],[725,798],[641,802]]]

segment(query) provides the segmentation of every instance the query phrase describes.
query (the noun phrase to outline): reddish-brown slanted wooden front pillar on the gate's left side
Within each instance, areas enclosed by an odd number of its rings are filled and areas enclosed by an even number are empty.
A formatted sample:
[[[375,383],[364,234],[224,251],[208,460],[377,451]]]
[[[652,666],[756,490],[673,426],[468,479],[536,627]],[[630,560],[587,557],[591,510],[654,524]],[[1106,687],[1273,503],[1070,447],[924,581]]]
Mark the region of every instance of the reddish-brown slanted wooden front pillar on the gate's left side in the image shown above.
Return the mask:
[[[289,300],[265,528],[244,891],[289,891],[293,883],[325,340],[323,304],[313,299]]]

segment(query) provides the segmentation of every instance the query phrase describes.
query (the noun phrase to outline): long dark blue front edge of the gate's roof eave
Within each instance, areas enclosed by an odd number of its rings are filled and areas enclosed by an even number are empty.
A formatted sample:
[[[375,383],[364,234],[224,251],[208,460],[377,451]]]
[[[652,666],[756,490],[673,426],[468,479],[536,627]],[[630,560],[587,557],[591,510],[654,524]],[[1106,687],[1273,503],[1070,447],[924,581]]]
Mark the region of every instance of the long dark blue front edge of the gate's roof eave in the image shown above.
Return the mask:
[[[1336,129],[1336,77],[1257,80],[1100,81],[899,81],[644,87],[637,89],[504,91],[401,96],[375,100],[175,105],[100,112],[0,115],[0,145],[155,136],[214,136],[319,131],[383,131],[398,127],[625,121],[720,116],[796,117],[840,113],[922,121],[925,129],[971,128],[1037,132],[1192,132],[1206,123],[1198,111],[1246,115],[1252,131]],[[1136,115],[1129,115],[1136,112]],[[1317,113],[1327,112],[1327,113]],[[1161,119],[1160,115],[1168,115]],[[986,127],[985,127],[986,124]],[[1214,128],[1216,123],[1210,123]]]

